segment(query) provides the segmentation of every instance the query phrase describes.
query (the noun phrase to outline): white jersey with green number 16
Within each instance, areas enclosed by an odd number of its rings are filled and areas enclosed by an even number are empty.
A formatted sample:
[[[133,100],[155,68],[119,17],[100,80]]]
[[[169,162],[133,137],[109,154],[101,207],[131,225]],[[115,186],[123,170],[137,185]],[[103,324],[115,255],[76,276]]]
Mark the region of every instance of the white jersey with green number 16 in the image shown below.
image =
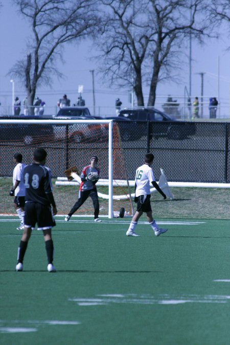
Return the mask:
[[[150,194],[150,186],[152,188],[152,181],[155,181],[155,177],[152,168],[150,168],[148,164],[143,164],[141,167],[137,168],[135,176],[135,196]]]

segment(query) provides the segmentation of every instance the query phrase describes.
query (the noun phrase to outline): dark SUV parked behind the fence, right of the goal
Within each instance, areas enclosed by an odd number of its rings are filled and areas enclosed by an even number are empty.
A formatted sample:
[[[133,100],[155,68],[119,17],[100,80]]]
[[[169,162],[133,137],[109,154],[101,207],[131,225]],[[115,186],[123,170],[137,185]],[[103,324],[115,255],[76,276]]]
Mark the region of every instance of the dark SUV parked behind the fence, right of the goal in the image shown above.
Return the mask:
[[[143,126],[145,127],[147,121],[157,123],[155,125],[151,125],[150,134],[155,138],[165,136],[168,137],[168,139],[181,140],[187,139],[190,135],[194,135],[196,133],[194,123],[177,121],[171,118],[168,114],[153,107],[122,109],[118,114],[117,121],[122,121],[122,119],[144,122],[145,124],[143,124]]]

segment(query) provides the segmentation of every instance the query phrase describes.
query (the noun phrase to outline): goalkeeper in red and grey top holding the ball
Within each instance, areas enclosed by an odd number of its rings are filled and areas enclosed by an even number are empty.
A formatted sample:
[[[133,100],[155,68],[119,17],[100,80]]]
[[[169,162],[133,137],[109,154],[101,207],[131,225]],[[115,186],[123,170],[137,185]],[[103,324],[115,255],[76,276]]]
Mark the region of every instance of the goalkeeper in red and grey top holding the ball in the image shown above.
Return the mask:
[[[98,157],[93,156],[90,164],[83,168],[81,173],[81,184],[79,188],[78,201],[75,202],[71,211],[65,217],[65,221],[69,221],[71,216],[83,205],[85,200],[90,196],[94,204],[94,221],[101,222],[99,216],[99,200],[96,183],[99,180],[100,170],[97,168]]]

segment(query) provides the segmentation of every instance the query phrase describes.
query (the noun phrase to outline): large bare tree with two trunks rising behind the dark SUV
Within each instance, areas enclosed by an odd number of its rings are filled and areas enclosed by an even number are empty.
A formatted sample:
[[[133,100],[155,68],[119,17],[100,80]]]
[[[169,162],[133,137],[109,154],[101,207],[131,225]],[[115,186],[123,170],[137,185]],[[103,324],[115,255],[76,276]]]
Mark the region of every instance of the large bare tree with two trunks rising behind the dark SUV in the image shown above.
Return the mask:
[[[187,37],[191,34],[202,41],[202,35],[208,34],[210,22],[205,18],[205,0],[101,0],[101,3],[106,20],[98,49],[104,78],[109,78],[111,84],[133,87],[140,106],[144,105],[146,83],[148,106],[153,106],[157,84],[177,79]]]

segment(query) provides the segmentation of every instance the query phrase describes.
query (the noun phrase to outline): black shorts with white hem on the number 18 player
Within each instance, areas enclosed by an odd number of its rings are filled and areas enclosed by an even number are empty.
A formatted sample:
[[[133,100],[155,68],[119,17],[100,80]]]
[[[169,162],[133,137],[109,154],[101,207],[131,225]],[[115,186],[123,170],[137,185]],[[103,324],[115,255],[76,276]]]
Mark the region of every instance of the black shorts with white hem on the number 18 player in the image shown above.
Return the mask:
[[[25,227],[35,228],[37,223],[38,230],[51,229],[56,225],[52,215],[51,207],[38,202],[26,202],[25,204]]]

